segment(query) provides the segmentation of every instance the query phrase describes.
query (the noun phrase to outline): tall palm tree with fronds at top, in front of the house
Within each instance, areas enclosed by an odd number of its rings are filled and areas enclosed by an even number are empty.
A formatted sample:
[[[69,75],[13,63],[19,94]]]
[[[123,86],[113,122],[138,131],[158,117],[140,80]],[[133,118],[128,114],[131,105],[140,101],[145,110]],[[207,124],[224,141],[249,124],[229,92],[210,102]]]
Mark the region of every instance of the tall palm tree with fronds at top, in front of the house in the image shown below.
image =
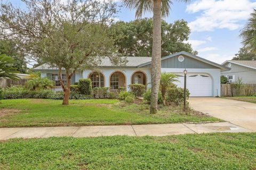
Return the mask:
[[[151,63],[151,103],[150,113],[157,113],[157,98],[161,74],[161,23],[162,16],[170,13],[171,0],[122,0],[123,4],[130,9],[136,9],[136,16],[142,13],[153,12],[153,46]],[[190,0],[176,0],[178,2],[189,2]]]

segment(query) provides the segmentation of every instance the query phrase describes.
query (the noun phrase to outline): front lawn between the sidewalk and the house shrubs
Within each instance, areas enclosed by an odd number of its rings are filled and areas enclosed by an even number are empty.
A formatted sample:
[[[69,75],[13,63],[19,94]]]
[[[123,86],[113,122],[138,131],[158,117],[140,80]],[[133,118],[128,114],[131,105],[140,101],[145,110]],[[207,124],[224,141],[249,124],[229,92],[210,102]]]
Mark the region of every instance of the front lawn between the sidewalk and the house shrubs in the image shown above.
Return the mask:
[[[80,126],[153,124],[220,121],[218,118],[189,111],[179,106],[162,107],[159,113],[149,114],[148,104],[124,104],[116,99],[61,100],[10,99],[1,100],[0,127]]]

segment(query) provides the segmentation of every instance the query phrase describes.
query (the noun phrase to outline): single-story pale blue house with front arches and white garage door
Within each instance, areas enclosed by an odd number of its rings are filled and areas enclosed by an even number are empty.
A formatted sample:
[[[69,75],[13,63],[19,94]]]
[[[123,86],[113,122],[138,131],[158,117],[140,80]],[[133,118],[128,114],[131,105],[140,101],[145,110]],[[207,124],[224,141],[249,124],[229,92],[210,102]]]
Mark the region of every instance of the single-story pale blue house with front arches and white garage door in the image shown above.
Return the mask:
[[[117,67],[106,57],[99,66],[100,73],[84,70],[73,75],[71,83],[74,84],[80,78],[90,78],[93,87],[110,87],[111,90],[126,87],[128,90],[129,84],[140,83],[150,88],[151,57],[127,57],[127,61],[126,66]],[[179,78],[178,87],[183,88],[185,69],[188,71],[187,88],[190,96],[220,96],[220,72],[229,70],[228,67],[187,52],[162,57],[162,72],[175,73]],[[56,88],[60,88],[57,68],[44,64],[34,70],[40,71],[42,77],[55,81]],[[66,79],[65,74],[62,74],[62,79]]]

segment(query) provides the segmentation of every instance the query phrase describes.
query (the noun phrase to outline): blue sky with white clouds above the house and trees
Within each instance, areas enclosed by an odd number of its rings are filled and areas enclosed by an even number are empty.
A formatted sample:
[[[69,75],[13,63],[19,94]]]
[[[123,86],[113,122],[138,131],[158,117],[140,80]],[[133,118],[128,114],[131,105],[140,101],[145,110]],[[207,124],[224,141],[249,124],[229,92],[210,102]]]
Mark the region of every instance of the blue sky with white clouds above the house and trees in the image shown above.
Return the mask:
[[[121,4],[120,0],[114,1]],[[11,2],[20,4],[20,0]],[[163,19],[169,23],[186,20],[191,29],[188,42],[198,51],[198,56],[221,64],[231,60],[242,47],[239,33],[253,8],[256,0],[191,0],[188,4],[173,1],[170,16]],[[152,16],[146,13],[142,18]],[[126,7],[121,7],[116,17],[119,21],[134,19],[135,11]]]

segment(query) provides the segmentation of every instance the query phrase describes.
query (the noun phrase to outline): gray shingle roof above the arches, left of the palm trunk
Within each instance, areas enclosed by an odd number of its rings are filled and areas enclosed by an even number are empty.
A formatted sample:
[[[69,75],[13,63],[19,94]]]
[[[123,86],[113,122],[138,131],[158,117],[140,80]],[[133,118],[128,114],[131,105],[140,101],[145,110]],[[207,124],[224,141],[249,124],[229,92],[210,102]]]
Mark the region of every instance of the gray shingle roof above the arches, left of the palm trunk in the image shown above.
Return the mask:
[[[124,57],[125,58],[125,57]],[[126,67],[137,67],[140,64],[144,64],[151,61],[151,57],[126,57],[127,63]],[[101,64],[99,66],[102,67],[114,67],[108,57],[102,59]],[[58,70],[57,67],[50,67],[48,64],[43,64],[35,67],[33,70]]]

